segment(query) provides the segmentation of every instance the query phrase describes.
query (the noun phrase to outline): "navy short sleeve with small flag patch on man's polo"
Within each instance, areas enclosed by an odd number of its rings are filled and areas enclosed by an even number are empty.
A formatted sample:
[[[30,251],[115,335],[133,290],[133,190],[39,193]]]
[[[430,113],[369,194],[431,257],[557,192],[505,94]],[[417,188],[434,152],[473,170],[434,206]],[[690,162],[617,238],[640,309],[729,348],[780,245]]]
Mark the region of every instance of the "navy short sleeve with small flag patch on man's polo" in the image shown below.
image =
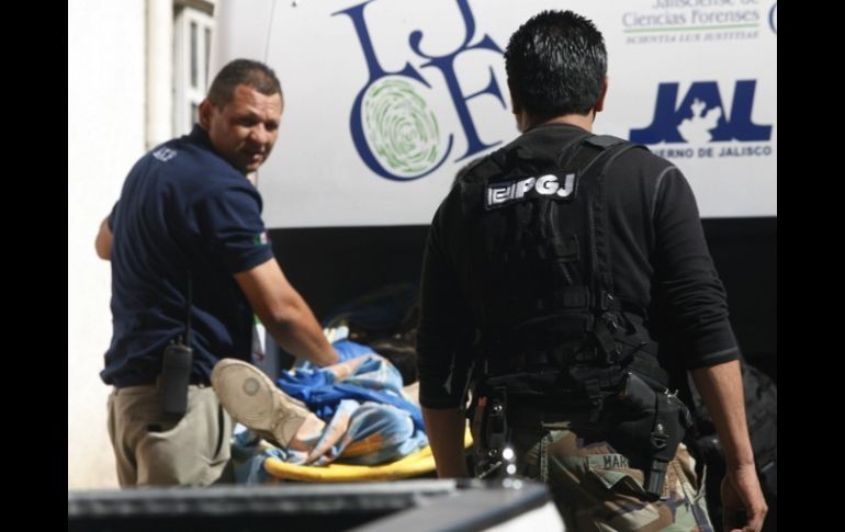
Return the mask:
[[[216,189],[195,205],[203,246],[233,274],[273,257],[261,220],[261,196],[247,182]]]

